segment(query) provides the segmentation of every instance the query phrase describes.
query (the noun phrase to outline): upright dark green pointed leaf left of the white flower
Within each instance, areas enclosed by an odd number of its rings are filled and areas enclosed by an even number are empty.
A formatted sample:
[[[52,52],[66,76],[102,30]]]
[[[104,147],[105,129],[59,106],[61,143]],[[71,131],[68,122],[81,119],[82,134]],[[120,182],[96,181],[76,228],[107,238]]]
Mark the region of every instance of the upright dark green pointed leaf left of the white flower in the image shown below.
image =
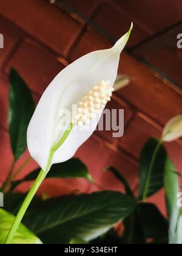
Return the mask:
[[[32,94],[15,69],[10,71],[8,124],[15,160],[27,149],[27,127],[34,112]]]

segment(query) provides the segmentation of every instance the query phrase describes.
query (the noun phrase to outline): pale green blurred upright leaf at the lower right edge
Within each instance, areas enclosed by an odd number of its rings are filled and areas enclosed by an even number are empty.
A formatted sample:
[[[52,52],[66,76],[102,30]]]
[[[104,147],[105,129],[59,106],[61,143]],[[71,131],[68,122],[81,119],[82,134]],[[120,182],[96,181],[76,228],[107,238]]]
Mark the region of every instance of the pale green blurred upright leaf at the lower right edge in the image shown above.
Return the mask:
[[[167,213],[169,218],[169,243],[182,244],[182,216],[177,204],[180,193],[175,166],[168,158],[165,166],[164,188],[166,194]]]

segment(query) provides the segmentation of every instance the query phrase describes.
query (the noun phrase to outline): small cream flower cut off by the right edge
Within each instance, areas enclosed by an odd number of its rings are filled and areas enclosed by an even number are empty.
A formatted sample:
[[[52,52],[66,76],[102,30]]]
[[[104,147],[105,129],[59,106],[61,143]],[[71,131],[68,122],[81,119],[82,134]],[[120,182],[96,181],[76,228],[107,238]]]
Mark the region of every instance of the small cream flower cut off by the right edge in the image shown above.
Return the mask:
[[[182,137],[182,115],[175,116],[166,124],[162,140],[169,142]]]

